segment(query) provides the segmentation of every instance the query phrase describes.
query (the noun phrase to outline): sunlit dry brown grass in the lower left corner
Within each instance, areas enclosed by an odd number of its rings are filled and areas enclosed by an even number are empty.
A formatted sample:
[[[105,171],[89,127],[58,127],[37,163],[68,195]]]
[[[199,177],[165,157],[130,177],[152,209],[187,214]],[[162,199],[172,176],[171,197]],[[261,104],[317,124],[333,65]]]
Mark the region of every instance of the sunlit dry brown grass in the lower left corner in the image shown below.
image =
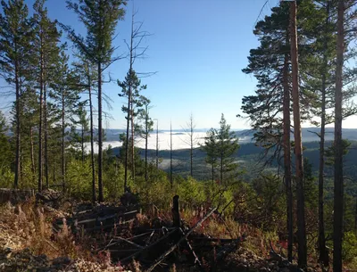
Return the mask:
[[[44,254],[47,260],[70,258],[71,263],[61,271],[127,271],[120,265],[112,264],[109,252],[94,255],[90,251],[88,238],[83,236],[75,239],[65,219],[61,231],[55,234],[52,222],[56,218],[62,218],[61,212],[44,209],[36,205],[34,200],[15,207],[10,203],[0,207],[0,251],[11,248],[12,256],[21,256],[21,252],[29,251],[34,256]],[[16,262],[15,259],[9,262]],[[49,261],[48,266],[51,264]],[[29,263],[29,267],[32,264]]]

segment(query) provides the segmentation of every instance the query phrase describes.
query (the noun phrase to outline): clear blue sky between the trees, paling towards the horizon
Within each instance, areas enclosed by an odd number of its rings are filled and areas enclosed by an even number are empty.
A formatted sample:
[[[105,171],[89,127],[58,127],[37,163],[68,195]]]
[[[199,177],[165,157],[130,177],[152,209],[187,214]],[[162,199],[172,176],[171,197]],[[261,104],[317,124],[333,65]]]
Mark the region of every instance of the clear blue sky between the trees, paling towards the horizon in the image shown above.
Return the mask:
[[[25,0],[32,7],[34,0]],[[217,128],[220,115],[225,115],[231,128],[249,128],[247,120],[237,118],[244,95],[253,95],[256,81],[242,72],[248,63],[249,50],[259,45],[253,35],[257,19],[270,13],[278,0],[132,0],[127,14],[117,26],[114,45],[120,45],[115,55],[127,54],[124,40],[130,36],[132,5],[137,10],[136,21],[152,35],[145,38],[146,57],[137,60],[137,72],[156,72],[142,78],[147,85],[143,95],[153,108],[151,116],[161,129],[184,128],[192,113],[196,128]],[[265,4],[265,5],[264,5]],[[71,25],[85,35],[77,15],[66,8],[64,0],[47,0],[49,17]],[[262,8],[263,7],[263,8]],[[63,41],[66,39],[63,38]],[[71,54],[71,48],[69,53]],[[105,71],[104,93],[112,99],[112,116],[105,128],[125,128],[119,97],[122,80],[129,70],[129,60],[114,62]],[[346,120],[344,128],[355,128],[357,118]]]

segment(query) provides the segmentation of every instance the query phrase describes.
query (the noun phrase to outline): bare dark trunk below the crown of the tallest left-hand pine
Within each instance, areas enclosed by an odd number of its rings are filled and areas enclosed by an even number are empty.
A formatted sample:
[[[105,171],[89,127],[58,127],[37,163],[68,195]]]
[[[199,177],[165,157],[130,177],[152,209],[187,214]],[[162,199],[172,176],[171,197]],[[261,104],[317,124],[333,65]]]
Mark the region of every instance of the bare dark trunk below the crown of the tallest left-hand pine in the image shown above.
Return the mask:
[[[103,195],[102,63],[98,62],[98,201]]]

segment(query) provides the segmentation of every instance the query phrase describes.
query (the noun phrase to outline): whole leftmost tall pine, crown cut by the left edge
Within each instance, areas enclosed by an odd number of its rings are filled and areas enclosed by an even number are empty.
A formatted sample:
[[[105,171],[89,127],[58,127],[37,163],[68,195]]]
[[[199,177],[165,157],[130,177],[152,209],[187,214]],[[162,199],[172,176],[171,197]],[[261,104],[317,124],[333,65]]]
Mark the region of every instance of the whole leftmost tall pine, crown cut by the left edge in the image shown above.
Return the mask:
[[[29,11],[23,0],[1,1],[0,75],[15,89],[15,177],[14,187],[21,182],[21,95],[29,76],[31,26]]]

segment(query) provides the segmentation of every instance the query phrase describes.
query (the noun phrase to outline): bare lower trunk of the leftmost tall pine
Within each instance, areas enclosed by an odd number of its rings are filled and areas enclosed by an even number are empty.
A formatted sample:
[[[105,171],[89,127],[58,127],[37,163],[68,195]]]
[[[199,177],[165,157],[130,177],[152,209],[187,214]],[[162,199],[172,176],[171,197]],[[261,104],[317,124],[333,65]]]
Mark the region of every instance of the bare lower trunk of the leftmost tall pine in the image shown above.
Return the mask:
[[[15,177],[13,185],[15,189],[19,186],[19,181],[21,179],[21,124],[20,124],[20,114],[21,114],[21,95],[20,95],[20,82],[19,82],[19,63],[15,61],[15,85],[16,85],[16,155],[15,155]]]

